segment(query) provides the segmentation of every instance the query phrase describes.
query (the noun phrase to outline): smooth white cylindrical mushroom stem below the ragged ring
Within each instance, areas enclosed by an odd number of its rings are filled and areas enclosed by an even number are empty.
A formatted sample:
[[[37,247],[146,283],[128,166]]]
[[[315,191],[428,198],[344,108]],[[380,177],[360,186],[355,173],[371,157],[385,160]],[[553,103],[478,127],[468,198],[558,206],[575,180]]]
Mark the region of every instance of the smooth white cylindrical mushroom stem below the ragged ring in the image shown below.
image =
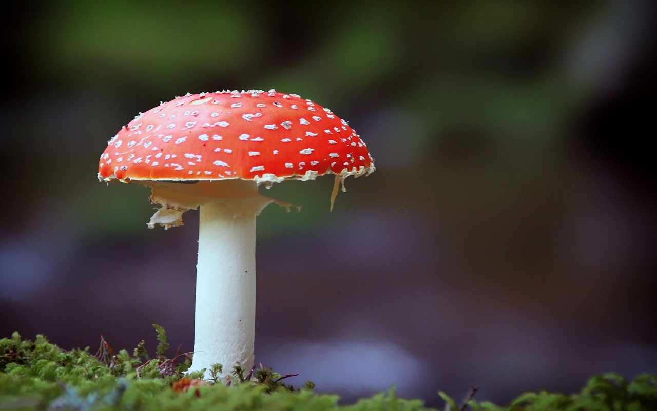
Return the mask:
[[[230,376],[254,363],[256,330],[256,214],[234,216],[221,203],[200,206],[196,315],[191,370],[223,365]]]

